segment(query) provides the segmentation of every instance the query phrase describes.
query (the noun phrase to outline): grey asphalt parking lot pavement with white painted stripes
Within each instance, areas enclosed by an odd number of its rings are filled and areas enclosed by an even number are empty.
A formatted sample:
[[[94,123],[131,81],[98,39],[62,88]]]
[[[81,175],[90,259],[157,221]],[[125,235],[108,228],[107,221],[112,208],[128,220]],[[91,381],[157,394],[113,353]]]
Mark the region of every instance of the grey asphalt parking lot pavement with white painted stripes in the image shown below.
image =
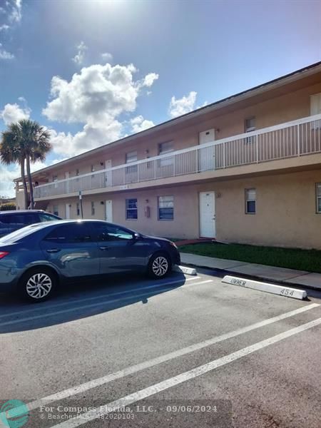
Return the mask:
[[[0,407],[27,403],[26,427],[319,427],[320,297],[205,270],[73,285],[38,305],[1,296]]]

